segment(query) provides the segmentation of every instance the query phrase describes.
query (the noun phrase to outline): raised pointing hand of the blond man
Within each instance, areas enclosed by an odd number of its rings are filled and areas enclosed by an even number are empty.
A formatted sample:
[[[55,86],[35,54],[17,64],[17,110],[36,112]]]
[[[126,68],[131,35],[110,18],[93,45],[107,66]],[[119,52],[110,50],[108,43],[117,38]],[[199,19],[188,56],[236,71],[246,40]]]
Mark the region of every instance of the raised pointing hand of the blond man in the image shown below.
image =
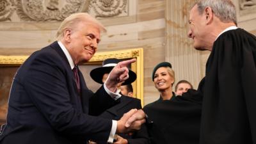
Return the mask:
[[[108,79],[106,80],[106,86],[111,92],[116,91],[116,85],[118,83],[124,83],[129,78],[128,65],[134,63],[135,58],[126,61],[120,61],[109,73]]]

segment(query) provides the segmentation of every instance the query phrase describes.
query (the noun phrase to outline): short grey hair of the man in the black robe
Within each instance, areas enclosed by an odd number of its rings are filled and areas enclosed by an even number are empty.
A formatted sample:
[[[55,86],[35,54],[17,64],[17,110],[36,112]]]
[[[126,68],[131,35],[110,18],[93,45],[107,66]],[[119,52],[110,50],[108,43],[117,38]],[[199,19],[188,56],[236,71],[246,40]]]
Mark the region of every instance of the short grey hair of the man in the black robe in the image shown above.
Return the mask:
[[[237,25],[236,7],[230,0],[199,0],[197,3],[198,12],[201,15],[204,9],[209,6],[212,12],[221,22],[234,22]]]

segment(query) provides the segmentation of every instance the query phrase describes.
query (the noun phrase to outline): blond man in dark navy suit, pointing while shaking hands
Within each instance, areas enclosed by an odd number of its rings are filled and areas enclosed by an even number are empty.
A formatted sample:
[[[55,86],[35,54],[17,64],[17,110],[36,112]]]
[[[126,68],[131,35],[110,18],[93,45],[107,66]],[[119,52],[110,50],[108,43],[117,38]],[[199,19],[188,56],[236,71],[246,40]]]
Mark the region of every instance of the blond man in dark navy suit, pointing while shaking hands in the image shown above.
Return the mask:
[[[143,116],[125,127],[136,109],[118,121],[96,117],[118,103],[116,84],[128,79],[126,66],[136,60],[118,63],[96,93],[88,90],[77,67],[95,54],[104,30],[87,13],[75,13],[61,24],[58,41],[31,54],[13,79],[0,143],[112,143],[116,132],[140,128]]]

